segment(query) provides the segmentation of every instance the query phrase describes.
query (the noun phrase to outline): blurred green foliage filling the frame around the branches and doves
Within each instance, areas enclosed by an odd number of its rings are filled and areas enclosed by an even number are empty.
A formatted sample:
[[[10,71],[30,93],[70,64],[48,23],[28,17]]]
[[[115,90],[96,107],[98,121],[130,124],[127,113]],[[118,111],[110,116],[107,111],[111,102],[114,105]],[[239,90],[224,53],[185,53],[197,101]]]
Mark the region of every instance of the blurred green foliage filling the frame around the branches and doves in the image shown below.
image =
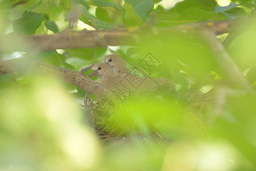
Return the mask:
[[[19,36],[127,28],[141,31],[139,44],[111,48],[144,72],[139,62],[151,52],[161,66],[150,75],[172,79],[174,91],[115,101],[114,115],[97,116],[99,133],[87,127],[78,107],[83,89],[36,74],[0,75],[0,170],[255,170],[255,94],[229,82],[197,35],[157,32],[250,18],[255,1],[168,2],[1,0],[1,36],[17,42],[0,40],[2,60],[42,60],[80,71],[92,64],[95,48],[36,51]],[[254,89],[255,39],[255,30],[244,31],[226,49]],[[96,48],[95,62],[107,54],[106,47]]]

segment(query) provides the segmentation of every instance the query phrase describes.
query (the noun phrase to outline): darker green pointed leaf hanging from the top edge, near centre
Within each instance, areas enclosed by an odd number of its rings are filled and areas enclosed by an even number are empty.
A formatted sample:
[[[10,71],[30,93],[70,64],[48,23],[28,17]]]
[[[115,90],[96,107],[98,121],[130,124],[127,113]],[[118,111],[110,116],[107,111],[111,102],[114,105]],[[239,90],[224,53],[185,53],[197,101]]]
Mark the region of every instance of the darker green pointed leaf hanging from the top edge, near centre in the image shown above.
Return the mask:
[[[125,3],[131,3],[133,10],[143,21],[146,21],[154,8],[152,0],[124,0]]]

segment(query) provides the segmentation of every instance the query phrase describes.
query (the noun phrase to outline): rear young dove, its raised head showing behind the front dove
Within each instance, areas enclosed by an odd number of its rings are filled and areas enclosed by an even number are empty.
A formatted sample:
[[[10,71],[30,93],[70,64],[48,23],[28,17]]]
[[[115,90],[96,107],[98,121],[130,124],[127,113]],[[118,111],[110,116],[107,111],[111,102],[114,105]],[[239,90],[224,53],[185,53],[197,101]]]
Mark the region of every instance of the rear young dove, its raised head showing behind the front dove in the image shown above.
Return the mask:
[[[107,55],[103,58],[103,62],[108,64],[110,67],[113,68],[113,72],[115,76],[122,76],[122,75],[133,75],[129,73],[129,70],[126,66],[125,60],[119,55]],[[165,78],[151,78],[151,83],[158,84],[158,86],[164,86],[166,88],[173,88],[172,80],[165,79]]]

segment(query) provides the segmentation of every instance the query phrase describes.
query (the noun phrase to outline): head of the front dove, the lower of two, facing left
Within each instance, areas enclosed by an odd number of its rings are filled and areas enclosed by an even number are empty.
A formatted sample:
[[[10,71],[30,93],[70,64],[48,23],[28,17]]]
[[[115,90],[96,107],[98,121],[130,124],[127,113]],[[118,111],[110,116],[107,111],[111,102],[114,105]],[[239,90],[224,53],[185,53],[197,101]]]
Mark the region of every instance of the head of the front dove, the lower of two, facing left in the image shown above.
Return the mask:
[[[101,79],[112,78],[114,76],[113,68],[105,63],[96,63],[92,67],[92,72],[88,75],[88,77],[91,76],[97,76]]]

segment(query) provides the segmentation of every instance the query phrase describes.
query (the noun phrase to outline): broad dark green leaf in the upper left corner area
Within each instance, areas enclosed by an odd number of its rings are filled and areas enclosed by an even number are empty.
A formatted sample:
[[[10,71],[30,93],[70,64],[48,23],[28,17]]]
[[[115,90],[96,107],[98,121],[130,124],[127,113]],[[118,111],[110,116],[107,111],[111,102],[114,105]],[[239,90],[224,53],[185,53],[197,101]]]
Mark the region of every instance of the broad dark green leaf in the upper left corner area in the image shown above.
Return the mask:
[[[43,14],[27,13],[27,11],[25,11],[21,18],[13,21],[13,30],[31,34],[41,25],[43,17]]]

